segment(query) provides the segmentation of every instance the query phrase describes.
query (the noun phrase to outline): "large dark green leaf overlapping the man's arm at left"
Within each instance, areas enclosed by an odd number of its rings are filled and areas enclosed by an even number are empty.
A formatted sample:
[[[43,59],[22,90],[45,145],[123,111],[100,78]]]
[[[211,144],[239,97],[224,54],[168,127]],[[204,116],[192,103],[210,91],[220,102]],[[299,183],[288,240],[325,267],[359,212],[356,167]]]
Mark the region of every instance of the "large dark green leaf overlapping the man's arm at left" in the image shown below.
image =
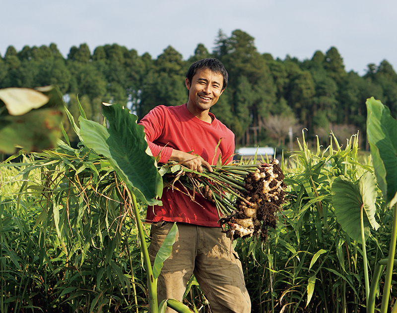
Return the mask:
[[[79,117],[80,136],[86,147],[103,155],[134,195],[149,205],[161,205],[163,182],[154,157],[149,156],[143,126],[136,124],[137,116],[122,105],[103,106],[109,122],[105,126]]]

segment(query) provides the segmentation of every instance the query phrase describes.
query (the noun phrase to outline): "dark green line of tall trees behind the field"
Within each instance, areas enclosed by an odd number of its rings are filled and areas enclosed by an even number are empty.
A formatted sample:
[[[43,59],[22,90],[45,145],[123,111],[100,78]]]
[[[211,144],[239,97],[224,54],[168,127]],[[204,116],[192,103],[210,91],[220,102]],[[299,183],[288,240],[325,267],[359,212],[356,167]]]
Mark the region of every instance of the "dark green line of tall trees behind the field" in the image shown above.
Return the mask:
[[[365,134],[371,96],[397,115],[397,74],[387,60],[369,64],[360,76],[345,71],[334,47],[302,61],[274,59],[259,53],[254,38],[241,30],[230,37],[219,31],[212,52],[199,44],[188,60],[171,46],[157,59],[117,44],[92,53],[86,44],[73,46],[66,59],[55,44],[19,52],[10,46],[0,56],[0,88],[56,84],[76,117],[78,94],[92,120],[101,121],[102,102],[127,105],[141,118],[156,105],[185,103],[185,74],[204,57],[219,58],[229,72],[229,86],[211,111],[233,130],[238,146],[282,147],[289,132],[297,137],[303,127],[324,143],[330,130],[342,142],[357,130]]]

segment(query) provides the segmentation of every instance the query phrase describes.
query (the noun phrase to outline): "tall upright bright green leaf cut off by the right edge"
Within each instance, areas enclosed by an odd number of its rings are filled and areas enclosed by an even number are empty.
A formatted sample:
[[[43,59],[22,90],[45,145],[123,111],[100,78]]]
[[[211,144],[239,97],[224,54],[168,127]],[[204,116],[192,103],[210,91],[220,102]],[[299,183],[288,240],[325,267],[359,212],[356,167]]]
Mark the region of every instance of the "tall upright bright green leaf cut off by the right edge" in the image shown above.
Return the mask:
[[[367,138],[375,175],[387,203],[397,191],[397,120],[374,97],[367,99]],[[393,204],[392,204],[393,205]]]

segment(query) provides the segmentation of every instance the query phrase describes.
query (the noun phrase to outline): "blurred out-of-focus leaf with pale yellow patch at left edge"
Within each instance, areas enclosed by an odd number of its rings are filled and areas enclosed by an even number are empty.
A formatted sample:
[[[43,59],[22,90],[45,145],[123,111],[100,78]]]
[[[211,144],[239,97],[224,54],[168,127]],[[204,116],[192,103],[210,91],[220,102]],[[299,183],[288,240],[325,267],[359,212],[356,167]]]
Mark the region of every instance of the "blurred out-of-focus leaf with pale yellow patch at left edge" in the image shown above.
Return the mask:
[[[61,135],[64,101],[58,88],[0,90],[0,152],[16,147],[40,152],[57,146]]]

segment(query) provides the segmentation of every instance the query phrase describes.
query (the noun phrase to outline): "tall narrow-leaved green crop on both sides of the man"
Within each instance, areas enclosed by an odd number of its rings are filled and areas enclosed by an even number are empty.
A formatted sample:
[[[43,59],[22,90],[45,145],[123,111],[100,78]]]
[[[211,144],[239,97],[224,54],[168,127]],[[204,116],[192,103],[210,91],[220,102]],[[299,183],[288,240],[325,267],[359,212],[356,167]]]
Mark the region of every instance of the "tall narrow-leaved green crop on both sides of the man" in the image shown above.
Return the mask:
[[[335,177],[357,181],[373,170],[358,161],[357,135],[314,151],[303,136],[282,164],[289,189],[278,227],[266,243],[234,241],[253,312],[365,312],[362,250],[340,228],[331,202]],[[131,198],[106,160],[61,144],[2,163],[0,174],[1,312],[147,310]],[[369,268],[390,241],[392,212],[380,197],[376,204],[381,227],[367,241]],[[185,303],[209,312],[194,278],[191,285]]]

